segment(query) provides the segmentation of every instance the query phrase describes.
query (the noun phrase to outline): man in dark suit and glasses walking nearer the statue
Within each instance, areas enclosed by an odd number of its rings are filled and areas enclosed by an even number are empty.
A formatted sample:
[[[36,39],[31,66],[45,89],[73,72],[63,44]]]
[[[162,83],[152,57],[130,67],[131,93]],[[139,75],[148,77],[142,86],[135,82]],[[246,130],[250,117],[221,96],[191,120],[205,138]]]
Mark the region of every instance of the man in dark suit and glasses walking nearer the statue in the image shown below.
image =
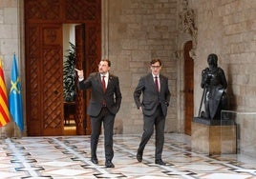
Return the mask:
[[[143,113],[143,134],[137,152],[137,159],[142,161],[143,150],[156,129],[156,151],[155,163],[165,165],[161,160],[161,153],[164,143],[164,126],[167,107],[170,101],[170,90],[168,78],[160,74],[161,61],[153,59],[150,62],[151,73],[142,76],[134,91],[135,103]],[[140,94],[142,101],[140,102]]]

